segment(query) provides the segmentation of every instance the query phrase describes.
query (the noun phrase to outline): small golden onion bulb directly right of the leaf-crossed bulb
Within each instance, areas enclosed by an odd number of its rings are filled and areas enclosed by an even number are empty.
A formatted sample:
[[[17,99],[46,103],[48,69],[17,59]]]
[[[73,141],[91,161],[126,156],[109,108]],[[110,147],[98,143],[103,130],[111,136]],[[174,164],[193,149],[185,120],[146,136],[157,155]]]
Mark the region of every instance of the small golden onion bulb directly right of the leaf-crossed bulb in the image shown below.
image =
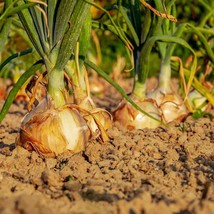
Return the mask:
[[[162,91],[157,88],[147,96],[157,102],[166,123],[182,120],[188,113],[182,98],[172,90]]]

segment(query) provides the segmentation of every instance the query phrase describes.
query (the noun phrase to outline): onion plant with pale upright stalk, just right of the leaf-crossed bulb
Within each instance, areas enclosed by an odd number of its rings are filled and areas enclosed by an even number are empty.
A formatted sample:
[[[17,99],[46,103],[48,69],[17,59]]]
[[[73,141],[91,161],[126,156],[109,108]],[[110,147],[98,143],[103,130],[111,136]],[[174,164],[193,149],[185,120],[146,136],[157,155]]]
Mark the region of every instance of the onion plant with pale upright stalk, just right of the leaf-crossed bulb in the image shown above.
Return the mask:
[[[162,4],[158,1],[155,1],[155,3],[156,8],[159,11],[163,11]],[[168,11],[166,11],[168,14],[176,16],[176,6],[174,1],[171,1],[166,7],[168,9]],[[156,29],[157,39],[163,41],[165,40],[165,36],[166,41],[158,42],[158,51],[161,57],[158,87],[149,93],[148,97],[157,102],[157,105],[162,112],[163,120],[166,123],[174,120],[181,120],[187,115],[184,100],[177,93],[176,87],[172,88],[171,84],[171,56],[176,45],[182,43],[182,40],[179,40],[179,37],[182,35],[183,31],[183,25],[176,27],[175,22],[171,22],[168,19],[162,19],[159,28]],[[163,37],[161,38],[161,36]]]

